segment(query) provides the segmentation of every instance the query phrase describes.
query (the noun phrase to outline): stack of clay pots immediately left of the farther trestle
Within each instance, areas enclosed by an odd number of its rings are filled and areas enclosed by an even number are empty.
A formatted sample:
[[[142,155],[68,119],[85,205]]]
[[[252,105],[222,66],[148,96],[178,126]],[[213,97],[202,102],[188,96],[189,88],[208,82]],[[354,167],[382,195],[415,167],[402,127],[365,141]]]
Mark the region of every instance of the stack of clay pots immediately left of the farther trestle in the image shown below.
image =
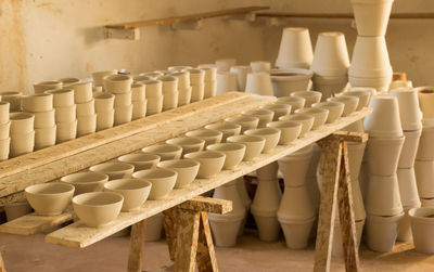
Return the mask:
[[[306,174],[312,155],[311,145],[278,160],[285,189],[278,209],[278,220],[285,236],[286,246],[305,248],[316,219],[306,186]]]

